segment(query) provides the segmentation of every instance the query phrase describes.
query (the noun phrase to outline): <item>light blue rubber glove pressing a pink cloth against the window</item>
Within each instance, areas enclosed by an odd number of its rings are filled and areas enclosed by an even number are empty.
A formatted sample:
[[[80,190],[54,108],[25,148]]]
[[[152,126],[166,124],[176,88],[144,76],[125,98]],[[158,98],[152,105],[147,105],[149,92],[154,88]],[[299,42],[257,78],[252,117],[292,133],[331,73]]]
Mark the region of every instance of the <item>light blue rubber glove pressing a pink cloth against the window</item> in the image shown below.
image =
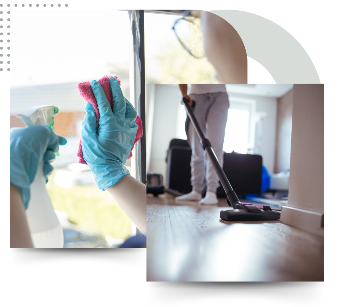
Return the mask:
[[[85,161],[90,167],[98,187],[102,190],[120,181],[129,171],[124,164],[130,154],[138,129],[136,111],[123,97],[120,85],[109,78],[113,112],[102,86],[90,82],[100,113],[99,128],[94,107],[87,103],[82,122],[81,145]]]

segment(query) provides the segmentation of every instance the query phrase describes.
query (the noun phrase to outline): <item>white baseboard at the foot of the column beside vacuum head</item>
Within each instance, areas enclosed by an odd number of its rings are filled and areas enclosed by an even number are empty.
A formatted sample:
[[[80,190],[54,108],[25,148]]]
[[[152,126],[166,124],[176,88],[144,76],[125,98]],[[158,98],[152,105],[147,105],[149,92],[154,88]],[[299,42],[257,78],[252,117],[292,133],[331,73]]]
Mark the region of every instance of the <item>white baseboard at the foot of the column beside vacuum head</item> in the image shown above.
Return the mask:
[[[283,206],[280,222],[324,237],[323,213]]]

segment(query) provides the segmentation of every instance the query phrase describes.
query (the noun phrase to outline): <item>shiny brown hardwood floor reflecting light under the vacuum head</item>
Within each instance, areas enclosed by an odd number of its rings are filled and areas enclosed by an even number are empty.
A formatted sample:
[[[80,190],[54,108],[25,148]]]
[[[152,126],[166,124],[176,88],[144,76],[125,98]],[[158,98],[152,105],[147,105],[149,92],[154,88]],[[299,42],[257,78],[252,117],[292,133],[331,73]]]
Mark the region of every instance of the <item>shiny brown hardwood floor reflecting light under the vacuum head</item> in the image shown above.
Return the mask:
[[[324,238],[218,205],[147,196],[147,281],[324,281]]]

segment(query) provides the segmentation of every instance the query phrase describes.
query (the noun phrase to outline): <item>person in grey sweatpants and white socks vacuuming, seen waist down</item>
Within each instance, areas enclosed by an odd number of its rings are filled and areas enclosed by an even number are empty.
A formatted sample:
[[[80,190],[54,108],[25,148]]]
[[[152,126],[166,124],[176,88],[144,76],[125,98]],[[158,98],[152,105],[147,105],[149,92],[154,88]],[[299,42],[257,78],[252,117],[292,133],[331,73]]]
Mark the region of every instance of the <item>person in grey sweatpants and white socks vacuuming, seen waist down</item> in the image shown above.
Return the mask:
[[[182,97],[189,100],[193,114],[205,137],[211,141],[219,163],[223,164],[223,140],[227,123],[227,111],[230,106],[225,84],[191,84],[190,95],[187,84],[179,84]],[[219,177],[214,171],[211,161],[206,157],[200,139],[188,119],[185,124],[187,142],[191,146],[191,185],[192,192],[175,199],[177,201],[199,201],[200,204],[216,204],[216,190]],[[202,186],[206,180],[207,192],[202,199]]]

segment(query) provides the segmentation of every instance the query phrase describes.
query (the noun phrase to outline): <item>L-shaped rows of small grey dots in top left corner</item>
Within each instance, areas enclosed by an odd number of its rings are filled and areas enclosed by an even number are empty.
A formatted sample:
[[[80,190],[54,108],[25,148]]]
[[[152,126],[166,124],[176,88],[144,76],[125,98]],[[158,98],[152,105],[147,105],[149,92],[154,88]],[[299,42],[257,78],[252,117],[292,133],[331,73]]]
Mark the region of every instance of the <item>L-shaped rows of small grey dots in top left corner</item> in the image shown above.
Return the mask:
[[[22,7],[40,7],[40,4],[25,4],[25,3],[21,3],[21,4],[17,4],[15,3],[14,5],[7,3],[7,4],[3,4],[0,3],[0,72],[3,72],[4,70],[7,70],[8,72],[10,71],[10,54],[7,53],[5,54],[5,50],[7,50],[7,52],[10,52],[10,32],[5,33],[5,29],[7,28],[9,31],[10,29],[10,11],[8,10],[6,13],[3,10],[3,7],[8,7],[9,9],[12,7],[18,7],[18,8],[22,8]],[[45,3],[44,5],[42,5],[45,8],[54,8],[55,6],[57,7],[62,7],[62,5],[60,3],[58,4],[54,4],[54,3],[50,3],[48,6]],[[65,3],[64,7],[68,7],[68,4]],[[7,20],[7,22],[6,22]],[[6,43],[7,41],[7,43]]]

